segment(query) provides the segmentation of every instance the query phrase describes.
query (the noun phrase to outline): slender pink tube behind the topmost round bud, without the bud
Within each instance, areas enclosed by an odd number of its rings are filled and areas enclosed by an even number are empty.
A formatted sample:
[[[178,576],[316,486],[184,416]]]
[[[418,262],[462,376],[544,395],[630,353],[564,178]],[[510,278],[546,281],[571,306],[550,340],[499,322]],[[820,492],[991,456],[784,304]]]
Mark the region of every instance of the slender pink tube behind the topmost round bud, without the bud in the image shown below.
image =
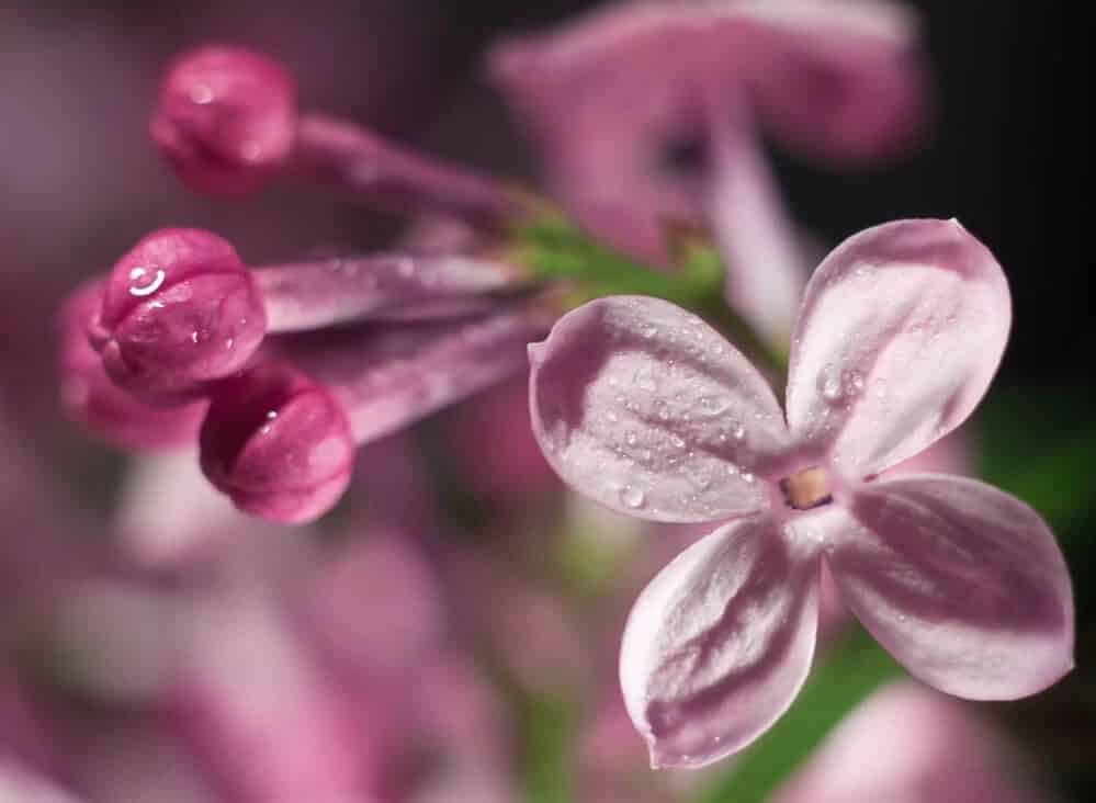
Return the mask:
[[[320,114],[301,117],[292,157],[297,172],[346,188],[398,214],[443,214],[497,226],[521,205],[520,194],[364,128]]]

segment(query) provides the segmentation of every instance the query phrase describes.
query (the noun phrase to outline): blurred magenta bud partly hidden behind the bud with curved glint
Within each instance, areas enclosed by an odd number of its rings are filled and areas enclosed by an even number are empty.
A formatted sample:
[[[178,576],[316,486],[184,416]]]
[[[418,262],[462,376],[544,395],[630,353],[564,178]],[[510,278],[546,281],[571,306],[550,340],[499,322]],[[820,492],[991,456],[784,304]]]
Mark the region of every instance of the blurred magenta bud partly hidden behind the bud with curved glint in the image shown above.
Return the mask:
[[[102,299],[102,283],[77,290],[60,314],[60,389],[69,416],[105,440],[127,449],[171,449],[192,443],[205,403],[149,407],[123,391],[88,343],[88,323]]]

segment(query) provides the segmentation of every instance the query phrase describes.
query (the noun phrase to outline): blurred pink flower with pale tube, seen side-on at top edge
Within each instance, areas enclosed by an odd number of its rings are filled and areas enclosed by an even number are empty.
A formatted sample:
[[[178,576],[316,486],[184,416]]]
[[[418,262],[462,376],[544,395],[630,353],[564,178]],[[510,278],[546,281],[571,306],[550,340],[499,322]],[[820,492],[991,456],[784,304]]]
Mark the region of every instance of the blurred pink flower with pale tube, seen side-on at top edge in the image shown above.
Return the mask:
[[[620,3],[504,41],[490,68],[580,219],[648,257],[660,223],[710,219],[730,301],[777,337],[809,265],[761,132],[861,161],[925,116],[917,21],[881,0]]]

